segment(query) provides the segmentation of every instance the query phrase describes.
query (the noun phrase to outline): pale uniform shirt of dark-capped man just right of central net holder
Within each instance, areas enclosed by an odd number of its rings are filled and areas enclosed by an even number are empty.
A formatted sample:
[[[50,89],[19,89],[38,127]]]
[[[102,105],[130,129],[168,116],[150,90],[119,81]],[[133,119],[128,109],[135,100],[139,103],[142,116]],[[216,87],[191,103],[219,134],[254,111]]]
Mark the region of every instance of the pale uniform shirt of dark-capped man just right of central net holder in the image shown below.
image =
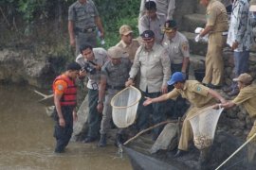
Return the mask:
[[[176,32],[172,40],[169,40],[168,37],[165,36],[162,45],[168,51],[171,63],[181,64],[184,58],[190,57],[189,42],[180,32]]]

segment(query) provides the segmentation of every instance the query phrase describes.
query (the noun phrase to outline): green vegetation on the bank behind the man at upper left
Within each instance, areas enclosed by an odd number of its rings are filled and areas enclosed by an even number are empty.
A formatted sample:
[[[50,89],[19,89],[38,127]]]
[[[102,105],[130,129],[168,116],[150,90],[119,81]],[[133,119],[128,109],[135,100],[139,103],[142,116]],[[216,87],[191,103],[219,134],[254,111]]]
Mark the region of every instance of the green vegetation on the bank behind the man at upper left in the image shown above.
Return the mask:
[[[11,30],[16,36],[36,37],[38,41],[54,43],[54,40],[67,41],[67,10],[75,0],[1,0],[1,25]],[[105,46],[109,47],[119,41],[119,26],[127,24],[137,30],[138,0],[94,0],[101,14],[101,21],[105,29]],[[55,26],[44,26],[52,23]],[[59,38],[37,36],[37,28],[53,29],[50,32],[59,32]],[[43,28],[42,28],[43,27]],[[46,32],[46,31],[43,31]],[[135,32],[137,36],[137,32]],[[46,34],[48,35],[48,34]],[[55,34],[56,35],[56,34]],[[24,37],[23,37],[24,38]],[[11,38],[13,39],[13,37]],[[53,42],[52,42],[53,41]],[[68,48],[67,48],[68,49]]]

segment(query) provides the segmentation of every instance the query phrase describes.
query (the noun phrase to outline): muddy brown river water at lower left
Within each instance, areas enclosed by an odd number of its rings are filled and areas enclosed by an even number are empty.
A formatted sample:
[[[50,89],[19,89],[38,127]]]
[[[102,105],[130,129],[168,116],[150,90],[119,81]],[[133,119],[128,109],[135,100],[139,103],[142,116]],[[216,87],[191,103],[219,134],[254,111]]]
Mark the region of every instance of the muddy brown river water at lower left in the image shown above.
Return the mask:
[[[38,99],[32,88],[0,85],[1,170],[132,169],[111,145],[70,143],[64,154],[54,154],[54,122]]]

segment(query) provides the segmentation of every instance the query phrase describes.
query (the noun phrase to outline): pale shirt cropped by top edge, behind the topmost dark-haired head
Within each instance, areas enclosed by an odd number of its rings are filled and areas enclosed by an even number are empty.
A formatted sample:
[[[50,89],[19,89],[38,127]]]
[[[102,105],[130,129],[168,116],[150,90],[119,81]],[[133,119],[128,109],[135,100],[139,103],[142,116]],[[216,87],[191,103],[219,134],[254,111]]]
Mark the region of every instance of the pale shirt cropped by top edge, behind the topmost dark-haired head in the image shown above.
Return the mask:
[[[147,0],[141,0],[139,8],[139,18],[143,15],[145,10],[145,3]],[[175,0],[155,0],[156,9],[158,13],[166,15],[166,20],[172,20],[175,9]]]

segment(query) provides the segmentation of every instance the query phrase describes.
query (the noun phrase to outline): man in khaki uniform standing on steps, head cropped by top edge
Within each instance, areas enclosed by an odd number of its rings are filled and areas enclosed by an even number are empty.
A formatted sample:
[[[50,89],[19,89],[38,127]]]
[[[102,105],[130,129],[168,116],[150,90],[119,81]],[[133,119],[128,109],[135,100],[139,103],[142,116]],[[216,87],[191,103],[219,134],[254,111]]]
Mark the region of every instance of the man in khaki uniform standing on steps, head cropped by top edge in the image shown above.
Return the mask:
[[[208,52],[206,56],[206,75],[203,83],[210,88],[220,88],[222,85],[224,61],[222,50],[226,37],[224,32],[229,29],[227,10],[217,0],[200,0],[207,8],[207,24],[200,37],[209,34]]]

